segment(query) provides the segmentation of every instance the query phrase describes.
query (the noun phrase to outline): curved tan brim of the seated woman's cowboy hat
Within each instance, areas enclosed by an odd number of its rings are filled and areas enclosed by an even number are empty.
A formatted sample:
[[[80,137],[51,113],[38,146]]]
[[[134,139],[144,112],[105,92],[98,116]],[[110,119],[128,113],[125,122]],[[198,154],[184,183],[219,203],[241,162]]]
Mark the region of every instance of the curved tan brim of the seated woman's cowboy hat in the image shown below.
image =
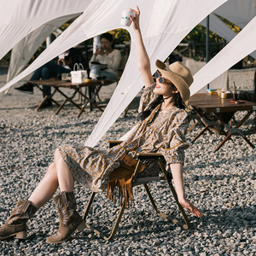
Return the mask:
[[[183,99],[183,102],[188,105],[190,96],[189,85],[179,75],[177,75],[177,73],[172,72],[171,69],[166,67],[164,62],[157,60],[155,62],[155,66],[160,71],[160,73],[166,77],[166,79],[169,79],[172,84],[175,85]],[[167,68],[168,70],[166,70]]]

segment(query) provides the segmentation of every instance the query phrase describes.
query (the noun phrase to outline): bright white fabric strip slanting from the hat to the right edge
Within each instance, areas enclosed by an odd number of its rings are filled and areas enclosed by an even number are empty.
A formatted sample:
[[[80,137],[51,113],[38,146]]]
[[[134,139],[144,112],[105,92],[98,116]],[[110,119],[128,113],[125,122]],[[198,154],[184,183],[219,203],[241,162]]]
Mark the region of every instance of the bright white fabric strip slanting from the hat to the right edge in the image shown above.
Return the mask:
[[[194,83],[190,86],[191,95],[200,90],[203,86],[224,73],[234,63],[240,61],[256,49],[254,42],[256,38],[256,17],[234,38],[218,55],[215,55],[206,66],[195,74]]]

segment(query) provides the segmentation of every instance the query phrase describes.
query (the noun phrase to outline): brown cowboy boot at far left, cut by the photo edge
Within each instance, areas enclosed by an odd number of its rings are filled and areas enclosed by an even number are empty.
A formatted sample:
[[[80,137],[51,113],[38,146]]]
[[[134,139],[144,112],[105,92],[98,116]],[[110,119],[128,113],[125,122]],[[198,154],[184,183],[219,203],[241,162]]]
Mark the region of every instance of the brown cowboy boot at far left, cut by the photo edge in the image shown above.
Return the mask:
[[[10,217],[0,229],[0,240],[15,235],[18,239],[26,239],[26,222],[37,210],[32,206],[31,201],[18,201]]]

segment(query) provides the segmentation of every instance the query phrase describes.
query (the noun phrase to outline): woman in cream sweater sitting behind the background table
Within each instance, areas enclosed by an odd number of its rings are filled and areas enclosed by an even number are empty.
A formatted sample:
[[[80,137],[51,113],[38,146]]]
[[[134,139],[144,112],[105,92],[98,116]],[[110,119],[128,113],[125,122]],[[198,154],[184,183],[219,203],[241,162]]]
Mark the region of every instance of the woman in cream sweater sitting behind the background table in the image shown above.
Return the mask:
[[[101,48],[97,48],[90,59],[90,78],[106,77],[111,81],[115,80],[118,74],[118,68],[121,61],[121,54],[118,49],[113,49],[113,36],[110,33],[104,33],[101,36]],[[106,64],[106,68],[101,70],[93,62]]]

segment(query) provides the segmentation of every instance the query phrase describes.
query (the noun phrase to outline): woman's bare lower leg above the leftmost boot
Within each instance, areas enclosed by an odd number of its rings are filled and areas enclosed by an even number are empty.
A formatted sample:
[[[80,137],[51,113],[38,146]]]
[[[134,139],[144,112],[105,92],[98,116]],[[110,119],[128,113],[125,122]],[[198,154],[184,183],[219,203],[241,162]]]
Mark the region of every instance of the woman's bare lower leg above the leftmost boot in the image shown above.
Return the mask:
[[[37,208],[43,207],[55,194],[58,186],[56,166],[55,163],[52,163],[28,201],[32,201],[32,204]]]

